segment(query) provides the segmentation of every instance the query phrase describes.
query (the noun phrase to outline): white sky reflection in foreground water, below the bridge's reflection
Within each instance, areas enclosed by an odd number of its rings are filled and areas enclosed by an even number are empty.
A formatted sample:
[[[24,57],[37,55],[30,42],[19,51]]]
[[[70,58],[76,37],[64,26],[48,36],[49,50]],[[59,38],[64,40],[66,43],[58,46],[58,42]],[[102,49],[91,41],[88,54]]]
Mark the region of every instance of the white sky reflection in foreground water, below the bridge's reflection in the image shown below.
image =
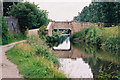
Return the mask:
[[[60,70],[69,78],[93,78],[93,74],[88,63],[85,63],[82,58],[66,59],[59,58],[61,63]]]

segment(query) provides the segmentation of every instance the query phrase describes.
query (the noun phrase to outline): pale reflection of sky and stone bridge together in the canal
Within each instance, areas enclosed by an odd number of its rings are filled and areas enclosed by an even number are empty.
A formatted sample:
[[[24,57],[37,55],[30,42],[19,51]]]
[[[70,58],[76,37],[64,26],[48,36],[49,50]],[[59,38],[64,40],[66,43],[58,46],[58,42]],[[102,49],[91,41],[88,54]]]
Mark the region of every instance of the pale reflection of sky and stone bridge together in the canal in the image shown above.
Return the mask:
[[[58,47],[53,47],[60,62],[60,70],[69,78],[93,78],[91,68],[83,57],[91,57],[70,45],[69,37]]]

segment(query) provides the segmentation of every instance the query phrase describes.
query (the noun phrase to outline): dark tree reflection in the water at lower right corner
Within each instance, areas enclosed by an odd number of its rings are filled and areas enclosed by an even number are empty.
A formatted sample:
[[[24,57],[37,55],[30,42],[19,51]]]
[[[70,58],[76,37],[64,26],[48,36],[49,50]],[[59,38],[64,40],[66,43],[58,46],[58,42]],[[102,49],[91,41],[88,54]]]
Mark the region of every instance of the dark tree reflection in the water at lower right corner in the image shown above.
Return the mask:
[[[120,65],[99,58],[96,60],[93,58],[84,58],[83,60],[90,65],[94,78],[115,78],[115,76],[120,76]]]

